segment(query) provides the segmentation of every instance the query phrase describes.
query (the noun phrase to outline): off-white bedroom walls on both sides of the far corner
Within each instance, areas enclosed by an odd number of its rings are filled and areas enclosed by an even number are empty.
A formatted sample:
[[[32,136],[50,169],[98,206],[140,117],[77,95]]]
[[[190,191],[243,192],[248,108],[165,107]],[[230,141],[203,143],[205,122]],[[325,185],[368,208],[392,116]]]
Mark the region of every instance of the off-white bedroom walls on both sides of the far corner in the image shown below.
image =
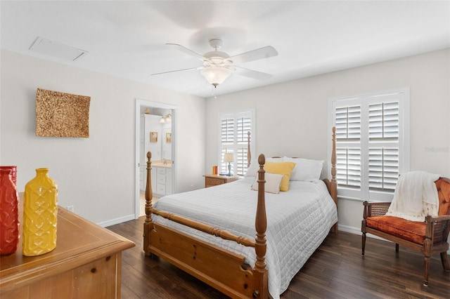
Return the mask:
[[[0,164],[18,165],[19,190],[35,168],[49,167],[61,206],[72,204],[94,222],[119,222],[134,214],[135,98],[178,107],[176,189],[183,192],[203,187],[202,175],[217,164],[219,112],[255,107],[257,154],[328,161],[328,98],[407,87],[411,170],[450,177],[449,72],[446,49],[218,95],[205,105],[194,96],[1,51]],[[90,95],[90,138],[36,137],[38,87]],[[359,232],[361,202],[341,199],[339,218],[341,230]]]

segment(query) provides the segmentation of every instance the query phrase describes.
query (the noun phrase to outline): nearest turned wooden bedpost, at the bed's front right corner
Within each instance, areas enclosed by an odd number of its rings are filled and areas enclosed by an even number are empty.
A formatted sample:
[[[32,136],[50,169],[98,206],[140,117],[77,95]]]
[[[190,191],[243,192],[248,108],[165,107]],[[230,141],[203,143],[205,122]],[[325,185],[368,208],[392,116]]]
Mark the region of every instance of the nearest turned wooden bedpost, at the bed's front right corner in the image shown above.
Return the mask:
[[[259,281],[259,289],[255,289],[253,292],[253,298],[268,298],[269,290],[265,289],[268,287],[269,278],[266,269],[266,228],[267,228],[267,218],[266,218],[266,203],[264,197],[264,184],[266,182],[264,178],[264,164],[266,163],[266,158],[264,154],[260,154],[258,157],[259,171],[258,171],[258,204],[256,209],[255,218],[255,229],[256,229],[256,239],[255,239],[255,252],[256,252],[256,262],[255,262],[255,277]]]

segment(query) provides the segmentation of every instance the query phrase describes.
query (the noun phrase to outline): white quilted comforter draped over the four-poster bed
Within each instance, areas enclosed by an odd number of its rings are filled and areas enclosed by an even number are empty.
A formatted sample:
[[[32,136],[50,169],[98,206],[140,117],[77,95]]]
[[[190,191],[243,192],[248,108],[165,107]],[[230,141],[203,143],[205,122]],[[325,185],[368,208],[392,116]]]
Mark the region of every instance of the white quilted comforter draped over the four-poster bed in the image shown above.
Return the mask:
[[[254,180],[248,177],[216,187],[172,194],[158,200],[154,208],[254,240],[257,191],[250,190]],[[288,192],[266,192],[265,197],[269,293],[279,298],[338,221],[338,212],[322,181],[291,181]],[[153,215],[153,220],[240,253],[247,263],[255,265],[255,248],[184,227],[157,215]]]

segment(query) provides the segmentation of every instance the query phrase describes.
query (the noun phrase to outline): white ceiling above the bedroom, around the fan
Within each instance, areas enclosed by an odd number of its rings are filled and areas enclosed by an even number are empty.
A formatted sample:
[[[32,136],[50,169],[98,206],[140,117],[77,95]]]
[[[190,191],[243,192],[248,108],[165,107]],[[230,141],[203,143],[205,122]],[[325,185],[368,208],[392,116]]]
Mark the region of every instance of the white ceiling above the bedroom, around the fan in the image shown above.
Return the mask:
[[[208,39],[237,55],[274,46],[278,56],[242,67],[217,95],[450,47],[450,1],[1,1],[2,49],[151,86],[210,97],[200,71],[150,76],[202,62]],[[88,51],[70,61],[30,50],[41,36]]]

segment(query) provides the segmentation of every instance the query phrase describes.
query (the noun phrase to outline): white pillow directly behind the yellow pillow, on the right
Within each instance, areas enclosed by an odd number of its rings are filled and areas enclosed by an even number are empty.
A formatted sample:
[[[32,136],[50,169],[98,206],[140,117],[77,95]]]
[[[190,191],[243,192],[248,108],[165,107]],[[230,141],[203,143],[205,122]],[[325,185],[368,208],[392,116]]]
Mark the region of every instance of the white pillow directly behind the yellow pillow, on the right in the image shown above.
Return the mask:
[[[323,160],[284,157],[284,161],[292,161],[295,163],[290,180],[317,182],[321,178]]]

